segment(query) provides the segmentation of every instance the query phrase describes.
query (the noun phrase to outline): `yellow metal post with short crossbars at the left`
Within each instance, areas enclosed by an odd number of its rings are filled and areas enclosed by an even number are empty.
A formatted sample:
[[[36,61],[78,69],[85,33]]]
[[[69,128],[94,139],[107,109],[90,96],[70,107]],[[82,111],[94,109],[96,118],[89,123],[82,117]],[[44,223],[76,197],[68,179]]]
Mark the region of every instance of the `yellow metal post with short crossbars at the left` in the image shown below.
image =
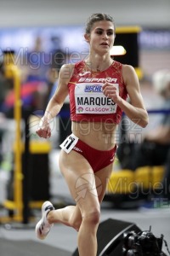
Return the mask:
[[[4,53],[4,72],[8,79],[14,81],[14,120],[15,120],[15,136],[14,136],[14,198],[13,200],[5,200],[3,207],[8,212],[8,216],[0,218],[0,223],[19,222],[28,224],[29,222],[29,208],[42,206],[42,201],[28,201],[29,193],[26,186],[26,178],[28,170],[23,170],[22,154],[23,152],[33,154],[44,154],[51,150],[49,142],[31,142],[26,140],[25,144],[21,140],[21,118],[22,118],[22,101],[20,94],[20,69],[14,65],[14,52]],[[26,126],[27,127],[27,126]],[[28,127],[27,127],[28,128]],[[28,133],[26,133],[27,136]],[[26,159],[25,159],[26,160]],[[26,165],[25,165],[26,167]],[[27,167],[26,167],[27,168]],[[11,215],[11,216],[10,216]]]

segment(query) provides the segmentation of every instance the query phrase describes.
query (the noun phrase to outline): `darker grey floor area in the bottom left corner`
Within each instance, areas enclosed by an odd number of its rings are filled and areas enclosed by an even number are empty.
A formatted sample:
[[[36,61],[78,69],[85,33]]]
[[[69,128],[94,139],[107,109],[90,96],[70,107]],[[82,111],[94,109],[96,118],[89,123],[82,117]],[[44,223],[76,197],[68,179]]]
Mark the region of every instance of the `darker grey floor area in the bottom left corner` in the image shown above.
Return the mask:
[[[0,238],[1,256],[71,256],[70,252],[30,240],[12,241]]]

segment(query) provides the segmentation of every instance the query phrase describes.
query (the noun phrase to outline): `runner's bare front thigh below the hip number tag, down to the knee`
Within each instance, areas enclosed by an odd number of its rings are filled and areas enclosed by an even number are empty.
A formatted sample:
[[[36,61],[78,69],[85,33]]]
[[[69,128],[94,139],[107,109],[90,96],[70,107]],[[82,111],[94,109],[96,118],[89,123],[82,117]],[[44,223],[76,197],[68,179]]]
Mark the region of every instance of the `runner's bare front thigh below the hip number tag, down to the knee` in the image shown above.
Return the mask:
[[[59,168],[82,214],[94,207],[99,208],[94,172],[82,154],[73,150],[66,154],[61,150]]]

